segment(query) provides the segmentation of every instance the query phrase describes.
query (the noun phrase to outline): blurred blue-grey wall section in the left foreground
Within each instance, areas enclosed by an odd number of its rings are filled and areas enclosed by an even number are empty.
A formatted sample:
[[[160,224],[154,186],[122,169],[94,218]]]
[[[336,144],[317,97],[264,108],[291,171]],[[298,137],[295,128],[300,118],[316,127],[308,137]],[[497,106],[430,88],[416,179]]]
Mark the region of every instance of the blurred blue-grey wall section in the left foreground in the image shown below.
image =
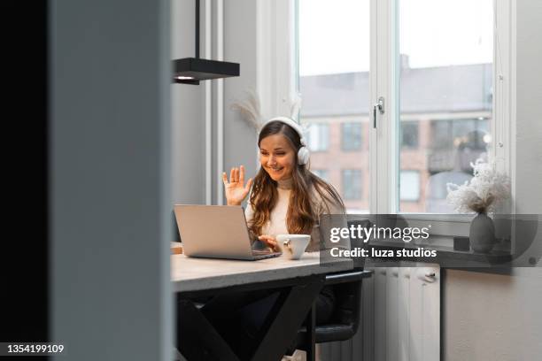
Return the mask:
[[[169,1],[49,4],[51,340],[170,360]]]

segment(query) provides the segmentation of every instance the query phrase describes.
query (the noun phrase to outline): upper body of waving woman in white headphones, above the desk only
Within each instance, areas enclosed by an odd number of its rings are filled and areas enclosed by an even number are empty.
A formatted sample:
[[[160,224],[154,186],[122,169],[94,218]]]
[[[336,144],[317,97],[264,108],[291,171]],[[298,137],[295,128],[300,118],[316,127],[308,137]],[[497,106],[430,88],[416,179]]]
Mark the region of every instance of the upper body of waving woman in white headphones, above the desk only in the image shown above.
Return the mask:
[[[335,188],[308,170],[309,151],[301,127],[292,119],[271,119],[259,132],[259,163],[244,185],[244,166],[222,173],[228,205],[240,205],[252,186],[245,216],[252,235],[280,250],[276,234],[311,234],[307,250],[320,250],[318,221],[322,214],[343,214]]]

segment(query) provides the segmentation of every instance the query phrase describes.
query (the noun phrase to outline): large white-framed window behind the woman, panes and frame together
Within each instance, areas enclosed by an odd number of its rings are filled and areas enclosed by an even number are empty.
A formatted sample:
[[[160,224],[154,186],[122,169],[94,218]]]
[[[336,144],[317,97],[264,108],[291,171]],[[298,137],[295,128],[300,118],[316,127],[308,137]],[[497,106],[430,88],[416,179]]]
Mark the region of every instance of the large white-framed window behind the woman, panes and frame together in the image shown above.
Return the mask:
[[[435,205],[445,203],[441,186],[468,179],[472,157],[492,153],[504,159],[501,170],[511,171],[511,0],[273,4],[263,2],[259,10],[267,19],[263,34],[275,36],[259,42],[273,44],[260,47],[265,51],[259,62],[270,65],[259,67],[259,87],[267,87],[260,94],[269,98],[271,112],[282,107],[275,112],[287,113],[291,104],[284,99],[299,93],[299,121],[328,125],[327,142],[317,144],[312,137],[311,165],[328,170],[344,199],[351,195],[343,193],[341,169],[361,171],[368,196],[349,200],[356,204],[348,209],[448,212]],[[283,12],[289,6],[291,12]],[[275,12],[267,16],[269,10]],[[276,27],[277,19],[288,26]],[[288,21],[294,19],[291,27]],[[295,32],[288,38],[284,29]],[[289,51],[295,52],[290,60]],[[269,74],[283,78],[273,81]],[[374,122],[373,104],[380,96],[384,113]],[[360,126],[343,126],[356,122]],[[361,136],[348,138],[359,130]]]

